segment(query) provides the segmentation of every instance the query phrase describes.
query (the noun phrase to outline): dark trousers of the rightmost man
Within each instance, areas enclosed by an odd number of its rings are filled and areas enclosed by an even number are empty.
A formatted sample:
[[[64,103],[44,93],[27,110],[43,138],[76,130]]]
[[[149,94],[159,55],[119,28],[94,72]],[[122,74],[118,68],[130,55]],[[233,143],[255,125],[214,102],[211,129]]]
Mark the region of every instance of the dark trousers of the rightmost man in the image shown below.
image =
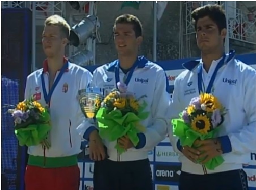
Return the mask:
[[[184,171],[179,179],[179,190],[249,190],[244,170],[223,171],[215,174],[195,175]]]

